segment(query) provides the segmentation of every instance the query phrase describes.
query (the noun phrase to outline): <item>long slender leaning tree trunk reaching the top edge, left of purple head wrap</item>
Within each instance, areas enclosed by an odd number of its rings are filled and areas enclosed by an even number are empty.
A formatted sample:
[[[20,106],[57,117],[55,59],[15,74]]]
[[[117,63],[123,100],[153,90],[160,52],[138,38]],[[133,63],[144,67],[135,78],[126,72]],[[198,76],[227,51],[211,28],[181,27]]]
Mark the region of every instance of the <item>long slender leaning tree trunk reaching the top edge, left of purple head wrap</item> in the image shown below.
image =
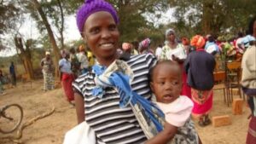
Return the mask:
[[[58,66],[58,62],[60,60],[60,49],[58,48],[57,46],[57,43],[55,41],[55,37],[54,37],[54,34],[51,30],[51,27],[49,26],[49,21],[47,20],[47,17],[46,15],[44,14],[44,11],[40,5],[40,3],[38,3],[38,0],[32,0],[35,4],[35,7],[36,9],[38,10],[38,13],[39,15],[41,16],[42,20],[43,20],[43,23],[44,23],[44,26],[46,27],[46,30],[48,32],[48,35],[49,35],[49,42],[51,43],[52,45],[52,48],[53,48],[53,52],[54,52],[54,64],[55,64],[55,78],[58,78],[59,77],[59,66]]]

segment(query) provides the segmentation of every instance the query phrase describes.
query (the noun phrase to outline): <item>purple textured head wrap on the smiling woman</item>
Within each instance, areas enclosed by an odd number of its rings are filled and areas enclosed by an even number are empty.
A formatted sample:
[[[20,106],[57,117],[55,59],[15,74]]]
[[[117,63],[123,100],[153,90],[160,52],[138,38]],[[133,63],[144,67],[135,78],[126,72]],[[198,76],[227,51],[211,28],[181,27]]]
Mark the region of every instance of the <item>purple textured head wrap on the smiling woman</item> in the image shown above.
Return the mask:
[[[84,4],[79,8],[77,12],[77,26],[79,32],[83,32],[84,22],[90,16],[90,14],[96,13],[98,11],[107,11],[112,14],[115,23],[119,23],[119,17],[113,6],[105,2],[104,0],[84,0]]]

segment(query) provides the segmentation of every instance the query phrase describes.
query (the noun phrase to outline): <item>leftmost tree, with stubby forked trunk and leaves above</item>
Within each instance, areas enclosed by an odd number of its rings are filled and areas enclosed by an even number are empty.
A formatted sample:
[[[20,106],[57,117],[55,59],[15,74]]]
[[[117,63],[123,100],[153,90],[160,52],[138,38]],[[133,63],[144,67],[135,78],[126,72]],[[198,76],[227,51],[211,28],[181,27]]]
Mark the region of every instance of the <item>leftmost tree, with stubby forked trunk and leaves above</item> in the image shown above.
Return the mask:
[[[19,33],[20,26],[23,22],[23,10],[19,8],[19,1],[4,1],[0,3],[0,37],[9,34],[9,37],[13,37],[13,42],[15,43],[16,50],[20,56],[20,60],[25,67],[26,73],[30,78],[34,78],[33,68],[32,68],[32,39],[26,40],[25,45],[22,42],[22,36]],[[17,37],[20,35],[20,37]],[[8,42],[9,37],[4,37],[0,39],[0,50],[7,49],[8,44],[3,44],[3,42]],[[4,45],[4,46],[3,46]]]

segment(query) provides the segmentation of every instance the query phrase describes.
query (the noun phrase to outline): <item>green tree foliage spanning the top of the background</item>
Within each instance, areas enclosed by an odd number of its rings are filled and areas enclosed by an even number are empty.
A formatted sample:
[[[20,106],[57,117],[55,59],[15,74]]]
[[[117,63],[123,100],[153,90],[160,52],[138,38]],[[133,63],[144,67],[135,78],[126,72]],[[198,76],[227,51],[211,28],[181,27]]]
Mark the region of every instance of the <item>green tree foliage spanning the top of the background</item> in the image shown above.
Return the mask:
[[[35,46],[41,49],[51,49],[49,36],[43,21],[38,15],[32,0],[2,0],[0,3],[0,40],[9,29],[17,30],[20,15],[29,14],[37,22],[41,37]],[[61,30],[65,30],[65,22],[61,20],[61,9],[64,19],[76,14],[84,0],[41,0],[40,6],[49,19],[49,25],[57,30],[55,33],[58,44],[61,44]],[[234,35],[247,29],[248,17],[256,14],[255,0],[108,0],[113,3],[119,14],[120,42],[141,41],[145,37],[152,39],[153,45],[163,43],[164,32],[174,28],[179,37],[192,37],[195,33],[226,35],[227,31]],[[61,7],[60,7],[61,4]],[[17,7],[19,6],[19,7]],[[160,24],[160,12],[173,8],[171,16],[176,20],[167,25]],[[145,16],[146,15],[146,16]],[[150,20],[148,20],[150,19]],[[64,27],[62,27],[64,26]],[[55,31],[56,32],[56,31]],[[65,39],[64,39],[65,40]],[[82,40],[67,42],[67,48],[78,47]],[[0,50],[3,49],[0,42]]]

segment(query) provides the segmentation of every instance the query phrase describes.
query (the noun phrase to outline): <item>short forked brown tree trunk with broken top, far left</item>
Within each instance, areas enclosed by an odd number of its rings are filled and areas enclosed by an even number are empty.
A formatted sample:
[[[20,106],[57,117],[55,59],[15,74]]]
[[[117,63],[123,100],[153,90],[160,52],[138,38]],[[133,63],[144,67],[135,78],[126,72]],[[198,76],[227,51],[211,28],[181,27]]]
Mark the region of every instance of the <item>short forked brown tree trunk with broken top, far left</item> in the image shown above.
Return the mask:
[[[29,78],[33,79],[34,72],[31,60],[31,45],[27,45],[26,49],[24,49],[21,37],[15,37],[15,46],[17,49],[20,49],[20,57],[23,62],[26,73],[28,74]]]

